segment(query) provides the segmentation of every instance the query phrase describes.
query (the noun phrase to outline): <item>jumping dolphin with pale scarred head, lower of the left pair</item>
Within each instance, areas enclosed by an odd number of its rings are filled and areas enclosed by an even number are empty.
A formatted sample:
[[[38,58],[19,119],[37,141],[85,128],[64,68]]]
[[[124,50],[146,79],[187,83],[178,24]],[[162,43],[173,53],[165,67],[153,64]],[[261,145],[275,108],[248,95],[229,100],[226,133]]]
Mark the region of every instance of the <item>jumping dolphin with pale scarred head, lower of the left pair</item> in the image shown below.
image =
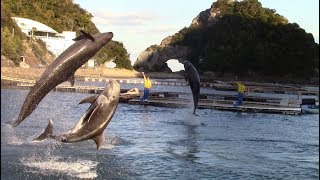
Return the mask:
[[[50,119],[44,132],[33,141],[42,141],[48,137],[65,143],[92,139],[99,150],[104,141],[104,129],[117,109],[119,96],[120,85],[112,80],[101,94],[90,96],[79,103],[91,103],[91,106],[70,131],[62,135],[53,135],[53,123]]]

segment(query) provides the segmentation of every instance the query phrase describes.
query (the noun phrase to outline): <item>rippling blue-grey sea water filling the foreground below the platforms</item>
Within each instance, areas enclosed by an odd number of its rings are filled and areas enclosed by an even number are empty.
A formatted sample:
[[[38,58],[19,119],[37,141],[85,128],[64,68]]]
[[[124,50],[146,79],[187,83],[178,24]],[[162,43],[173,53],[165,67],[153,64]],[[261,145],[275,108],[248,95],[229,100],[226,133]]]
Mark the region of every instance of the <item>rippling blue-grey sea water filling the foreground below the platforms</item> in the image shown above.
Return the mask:
[[[192,105],[119,104],[97,151],[93,141],[31,142],[49,118],[55,134],[71,129],[90,94],[50,92],[11,128],[5,122],[17,118],[27,93],[1,89],[1,179],[319,179],[318,115],[193,116]]]

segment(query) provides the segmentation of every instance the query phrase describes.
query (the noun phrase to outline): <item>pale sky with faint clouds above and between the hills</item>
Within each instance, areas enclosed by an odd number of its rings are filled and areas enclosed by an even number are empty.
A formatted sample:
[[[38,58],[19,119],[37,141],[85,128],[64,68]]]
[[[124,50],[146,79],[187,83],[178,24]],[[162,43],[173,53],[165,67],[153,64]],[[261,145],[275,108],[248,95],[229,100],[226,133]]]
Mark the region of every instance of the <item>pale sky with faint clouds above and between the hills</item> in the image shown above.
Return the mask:
[[[123,42],[132,64],[153,44],[188,27],[215,0],[74,0],[90,12],[100,32]],[[259,0],[263,7],[297,23],[319,43],[319,0]]]

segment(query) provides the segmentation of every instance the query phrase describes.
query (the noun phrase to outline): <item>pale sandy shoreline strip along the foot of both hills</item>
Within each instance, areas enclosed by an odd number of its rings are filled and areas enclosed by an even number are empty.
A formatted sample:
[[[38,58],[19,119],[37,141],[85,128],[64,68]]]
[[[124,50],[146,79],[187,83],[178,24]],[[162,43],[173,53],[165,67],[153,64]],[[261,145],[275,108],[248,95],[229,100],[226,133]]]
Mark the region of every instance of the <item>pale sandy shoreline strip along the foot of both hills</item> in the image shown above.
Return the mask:
[[[12,78],[20,78],[26,80],[38,80],[42,73],[45,71],[45,68],[21,68],[21,67],[1,67],[1,76],[8,76]],[[146,72],[147,76],[151,79],[181,79],[185,81],[184,76],[181,72]],[[135,70],[127,69],[118,69],[118,68],[79,68],[75,72],[75,79],[84,79],[84,78],[124,78],[124,79],[134,79],[134,78],[143,78],[142,73]],[[215,83],[215,82],[232,82],[233,77],[212,77],[212,76],[201,76],[203,82],[206,83]],[[309,82],[291,82],[291,80],[285,80],[283,78],[278,78],[278,81],[270,80],[270,78],[263,77],[246,77],[240,78],[245,83],[255,83],[255,84],[276,84],[276,85],[290,85],[290,86],[319,86],[318,83],[309,83]],[[279,83],[278,83],[279,82]],[[1,84],[2,81],[1,81]]]

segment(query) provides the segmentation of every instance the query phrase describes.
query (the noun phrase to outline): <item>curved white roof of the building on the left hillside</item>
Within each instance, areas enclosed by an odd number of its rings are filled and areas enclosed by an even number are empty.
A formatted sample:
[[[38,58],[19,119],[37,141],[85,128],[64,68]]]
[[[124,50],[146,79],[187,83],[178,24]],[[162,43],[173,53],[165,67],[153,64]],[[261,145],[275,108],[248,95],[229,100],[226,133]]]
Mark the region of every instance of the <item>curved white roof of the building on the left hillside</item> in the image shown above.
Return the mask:
[[[45,24],[42,24],[38,21],[34,21],[32,19],[21,18],[21,17],[12,17],[12,18],[17,22],[18,26],[21,29],[32,30],[32,28],[36,28],[37,31],[58,33],[57,31],[55,31],[51,27],[49,27]]]

